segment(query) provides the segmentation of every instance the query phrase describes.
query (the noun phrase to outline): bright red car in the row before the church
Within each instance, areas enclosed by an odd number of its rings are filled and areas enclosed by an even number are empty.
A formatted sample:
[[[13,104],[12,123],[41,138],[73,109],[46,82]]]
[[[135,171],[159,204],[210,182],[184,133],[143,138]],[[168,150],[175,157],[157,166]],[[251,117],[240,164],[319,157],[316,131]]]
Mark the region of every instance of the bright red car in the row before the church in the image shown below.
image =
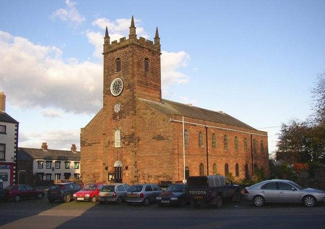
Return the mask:
[[[73,195],[75,201],[91,201],[95,203],[103,187],[103,183],[86,184],[81,190]]]

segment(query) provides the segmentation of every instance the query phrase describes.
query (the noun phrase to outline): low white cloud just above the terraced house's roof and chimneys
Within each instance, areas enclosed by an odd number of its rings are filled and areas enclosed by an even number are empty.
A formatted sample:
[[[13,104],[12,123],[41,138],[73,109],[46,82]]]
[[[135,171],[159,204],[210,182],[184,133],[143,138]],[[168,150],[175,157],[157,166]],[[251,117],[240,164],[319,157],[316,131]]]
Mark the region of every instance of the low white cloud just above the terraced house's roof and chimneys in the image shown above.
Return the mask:
[[[41,148],[42,142],[47,142],[49,149],[70,150],[76,144],[80,150],[80,130],[47,130],[43,133],[25,134],[19,131],[19,147]]]

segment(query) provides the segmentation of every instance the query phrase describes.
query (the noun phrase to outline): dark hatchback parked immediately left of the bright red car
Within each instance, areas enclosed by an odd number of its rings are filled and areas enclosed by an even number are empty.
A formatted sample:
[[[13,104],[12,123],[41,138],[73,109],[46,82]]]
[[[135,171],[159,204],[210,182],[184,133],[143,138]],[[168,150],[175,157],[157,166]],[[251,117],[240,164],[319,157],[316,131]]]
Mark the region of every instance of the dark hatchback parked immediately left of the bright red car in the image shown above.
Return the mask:
[[[73,195],[80,190],[80,186],[73,182],[59,183],[51,186],[47,193],[47,199],[49,202],[55,200],[62,200],[64,202],[70,202]]]

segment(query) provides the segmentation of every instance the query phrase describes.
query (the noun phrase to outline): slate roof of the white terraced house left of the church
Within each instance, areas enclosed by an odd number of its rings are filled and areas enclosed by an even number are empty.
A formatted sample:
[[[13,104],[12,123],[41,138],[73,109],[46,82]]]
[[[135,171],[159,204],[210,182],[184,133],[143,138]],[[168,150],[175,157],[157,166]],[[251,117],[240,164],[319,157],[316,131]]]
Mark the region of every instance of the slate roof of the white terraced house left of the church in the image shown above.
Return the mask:
[[[80,151],[18,147],[17,160],[31,159],[80,161]]]

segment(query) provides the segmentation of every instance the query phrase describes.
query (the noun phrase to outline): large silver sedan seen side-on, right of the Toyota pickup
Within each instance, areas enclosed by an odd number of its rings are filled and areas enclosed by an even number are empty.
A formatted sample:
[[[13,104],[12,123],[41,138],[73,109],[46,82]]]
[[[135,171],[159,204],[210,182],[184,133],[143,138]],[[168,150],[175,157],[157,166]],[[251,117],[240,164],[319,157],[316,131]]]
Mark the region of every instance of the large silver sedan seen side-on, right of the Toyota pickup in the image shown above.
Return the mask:
[[[303,188],[290,180],[265,180],[246,187],[244,199],[252,201],[257,207],[266,202],[297,202],[306,207],[314,207],[317,202],[325,201],[325,191]]]

